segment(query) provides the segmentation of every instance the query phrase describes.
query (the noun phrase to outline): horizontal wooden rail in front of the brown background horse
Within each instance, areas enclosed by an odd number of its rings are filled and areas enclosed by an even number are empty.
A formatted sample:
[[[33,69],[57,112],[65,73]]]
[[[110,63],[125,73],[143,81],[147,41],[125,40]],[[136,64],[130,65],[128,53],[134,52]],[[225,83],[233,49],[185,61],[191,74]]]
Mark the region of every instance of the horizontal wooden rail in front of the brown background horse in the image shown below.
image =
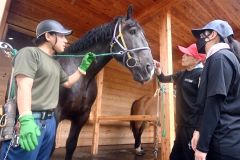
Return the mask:
[[[99,121],[156,121],[152,115],[99,116]]]

